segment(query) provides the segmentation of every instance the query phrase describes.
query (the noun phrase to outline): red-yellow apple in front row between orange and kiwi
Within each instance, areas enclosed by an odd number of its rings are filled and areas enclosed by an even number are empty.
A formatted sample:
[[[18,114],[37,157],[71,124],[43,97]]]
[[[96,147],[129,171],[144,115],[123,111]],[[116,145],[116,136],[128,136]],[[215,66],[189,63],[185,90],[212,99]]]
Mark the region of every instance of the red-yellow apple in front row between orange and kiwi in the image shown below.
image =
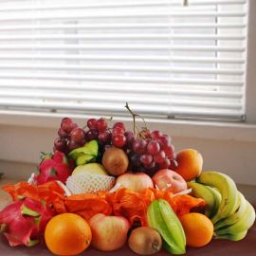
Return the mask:
[[[130,224],[121,216],[106,216],[95,214],[89,221],[92,230],[92,247],[111,251],[123,247],[127,240]]]

